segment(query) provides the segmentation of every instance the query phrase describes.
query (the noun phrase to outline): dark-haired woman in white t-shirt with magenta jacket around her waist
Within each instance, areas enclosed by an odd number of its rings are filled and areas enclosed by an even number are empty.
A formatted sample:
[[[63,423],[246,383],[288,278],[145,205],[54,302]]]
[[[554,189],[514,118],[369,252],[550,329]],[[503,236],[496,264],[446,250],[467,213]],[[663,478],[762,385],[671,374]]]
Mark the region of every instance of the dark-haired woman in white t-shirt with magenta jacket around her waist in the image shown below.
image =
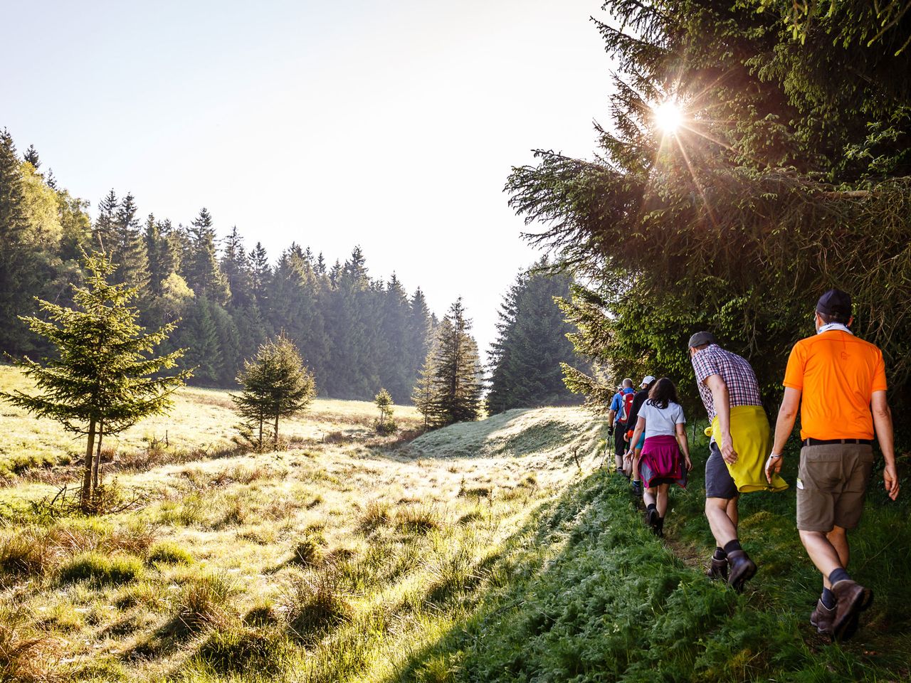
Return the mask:
[[[641,433],[645,433],[639,462],[639,474],[645,486],[642,495],[646,505],[645,519],[656,535],[664,535],[670,484],[686,488],[687,473],[692,469],[686,418],[674,382],[667,377],[655,382],[648,401],[639,409],[630,443],[637,443]]]

